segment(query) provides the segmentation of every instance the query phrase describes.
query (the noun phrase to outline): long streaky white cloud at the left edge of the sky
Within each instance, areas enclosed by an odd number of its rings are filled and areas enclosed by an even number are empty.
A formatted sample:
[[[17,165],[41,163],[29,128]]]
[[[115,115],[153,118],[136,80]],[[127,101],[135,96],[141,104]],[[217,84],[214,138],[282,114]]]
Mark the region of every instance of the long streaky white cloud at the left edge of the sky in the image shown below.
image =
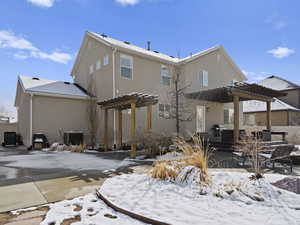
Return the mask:
[[[0,48],[18,50],[14,53],[14,57],[22,60],[38,58],[67,64],[72,59],[72,55],[58,50],[55,50],[52,53],[44,52],[35,47],[30,41],[23,37],[16,36],[13,32],[7,30],[0,30]]]

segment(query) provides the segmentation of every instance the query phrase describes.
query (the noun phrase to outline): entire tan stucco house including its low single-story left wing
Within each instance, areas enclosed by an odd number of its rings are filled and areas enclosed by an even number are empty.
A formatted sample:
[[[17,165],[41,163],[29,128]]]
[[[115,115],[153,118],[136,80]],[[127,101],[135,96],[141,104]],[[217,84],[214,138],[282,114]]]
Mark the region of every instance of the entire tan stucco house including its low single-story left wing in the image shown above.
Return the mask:
[[[178,72],[180,71],[180,72]],[[118,41],[106,35],[86,32],[71,76],[74,84],[42,78],[19,77],[16,106],[19,132],[30,145],[32,134],[42,132],[50,142],[61,141],[60,131],[81,130],[88,135],[87,93],[97,101],[132,92],[159,96],[153,107],[153,130],[172,134],[175,120],[169,118],[170,92],[174,76],[186,87],[185,93],[228,86],[246,78],[222,46],[216,46],[186,58],[176,58],[150,49]],[[84,90],[87,90],[84,91]],[[91,93],[92,92],[92,93]],[[214,124],[232,122],[232,105],[185,99],[191,120],[181,123],[180,133],[210,132]],[[242,108],[242,104],[240,104]],[[146,128],[146,109],[137,109],[137,130]],[[241,117],[242,117],[242,110]],[[123,111],[123,140],[129,140],[130,110]],[[101,143],[104,116],[99,107],[97,142]],[[117,115],[108,115],[109,144],[116,143]]]

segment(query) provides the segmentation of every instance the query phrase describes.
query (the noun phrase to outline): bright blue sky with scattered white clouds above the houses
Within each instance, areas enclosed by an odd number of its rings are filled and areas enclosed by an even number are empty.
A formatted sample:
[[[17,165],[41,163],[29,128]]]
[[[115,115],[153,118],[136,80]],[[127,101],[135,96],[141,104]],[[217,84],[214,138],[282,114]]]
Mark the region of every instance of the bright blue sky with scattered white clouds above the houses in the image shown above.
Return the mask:
[[[2,0],[0,107],[18,75],[70,80],[86,30],[184,57],[221,44],[251,81],[300,84],[297,0]]]

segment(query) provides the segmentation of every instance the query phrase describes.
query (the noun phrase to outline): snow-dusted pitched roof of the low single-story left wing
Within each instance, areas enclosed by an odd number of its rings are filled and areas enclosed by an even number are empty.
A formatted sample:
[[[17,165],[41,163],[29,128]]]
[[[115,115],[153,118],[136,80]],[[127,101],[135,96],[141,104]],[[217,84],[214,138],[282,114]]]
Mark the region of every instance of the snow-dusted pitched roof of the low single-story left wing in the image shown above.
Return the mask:
[[[19,82],[24,92],[27,93],[82,99],[89,97],[76,84],[69,82],[47,80],[27,76],[19,76]]]

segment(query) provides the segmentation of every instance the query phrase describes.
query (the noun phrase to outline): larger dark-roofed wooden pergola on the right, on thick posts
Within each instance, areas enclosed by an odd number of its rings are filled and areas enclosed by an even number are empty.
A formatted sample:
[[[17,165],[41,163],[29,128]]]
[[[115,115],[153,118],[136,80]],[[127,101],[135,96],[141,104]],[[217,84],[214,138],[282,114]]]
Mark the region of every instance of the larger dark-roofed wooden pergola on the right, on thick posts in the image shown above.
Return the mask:
[[[286,96],[285,93],[276,91],[258,84],[236,82],[232,86],[208,89],[186,94],[187,98],[211,102],[234,104],[234,144],[239,140],[239,102],[258,100],[267,103],[267,130],[271,130],[271,102],[273,98]]]

